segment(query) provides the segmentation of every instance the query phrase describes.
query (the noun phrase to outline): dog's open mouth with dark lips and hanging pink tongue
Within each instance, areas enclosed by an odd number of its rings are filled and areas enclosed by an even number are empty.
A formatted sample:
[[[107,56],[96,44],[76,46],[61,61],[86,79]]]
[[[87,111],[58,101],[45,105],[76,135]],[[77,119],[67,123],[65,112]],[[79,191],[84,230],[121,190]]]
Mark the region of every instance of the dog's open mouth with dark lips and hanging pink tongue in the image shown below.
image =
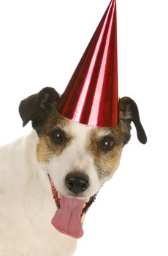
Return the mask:
[[[81,238],[83,236],[85,214],[96,199],[96,195],[88,199],[66,197],[57,191],[52,179],[49,175],[48,177],[50,179],[53,198],[58,208],[51,223],[61,233],[72,236],[73,238]]]

